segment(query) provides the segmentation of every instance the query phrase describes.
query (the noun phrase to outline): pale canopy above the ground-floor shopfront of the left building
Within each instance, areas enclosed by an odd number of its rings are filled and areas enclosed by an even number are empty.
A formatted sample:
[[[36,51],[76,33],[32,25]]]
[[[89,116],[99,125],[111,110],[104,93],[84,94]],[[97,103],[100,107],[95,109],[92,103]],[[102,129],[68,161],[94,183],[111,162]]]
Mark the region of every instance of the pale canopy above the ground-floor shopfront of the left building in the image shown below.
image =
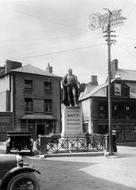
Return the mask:
[[[21,119],[45,119],[45,120],[55,120],[52,115],[38,115],[38,114],[27,114],[24,115]]]

